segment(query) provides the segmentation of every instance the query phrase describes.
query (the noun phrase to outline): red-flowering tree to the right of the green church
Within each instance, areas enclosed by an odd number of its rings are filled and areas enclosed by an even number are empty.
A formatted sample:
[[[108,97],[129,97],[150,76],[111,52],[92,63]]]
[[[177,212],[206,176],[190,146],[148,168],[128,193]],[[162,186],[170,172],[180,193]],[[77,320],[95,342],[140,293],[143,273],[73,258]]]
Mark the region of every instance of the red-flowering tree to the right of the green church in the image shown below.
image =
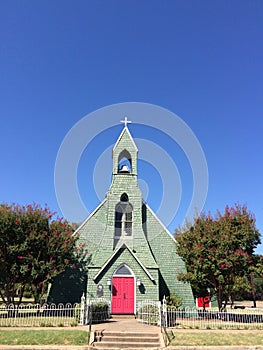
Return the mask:
[[[234,295],[237,278],[254,269],[254,250],[260,233],[246,206],[226,206],[215,218],[201,214],[185,232],[176,235],[177,251],[186,263],[181,280],[190,282],[196,294],[212,289],[221,309]]]

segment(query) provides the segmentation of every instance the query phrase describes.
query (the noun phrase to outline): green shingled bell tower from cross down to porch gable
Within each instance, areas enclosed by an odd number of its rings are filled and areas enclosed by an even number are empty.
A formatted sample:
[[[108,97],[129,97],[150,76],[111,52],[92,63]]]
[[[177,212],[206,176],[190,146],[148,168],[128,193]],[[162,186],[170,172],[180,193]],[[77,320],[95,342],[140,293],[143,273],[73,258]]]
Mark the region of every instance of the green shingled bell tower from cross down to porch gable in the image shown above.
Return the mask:
[[[147,245],[142,228],[142,194],[137,182],[138,149],[125,117],[124,128],[112,150],[112,183],[107,193],[113,223],[113,249],[126,244],[140,251]]]

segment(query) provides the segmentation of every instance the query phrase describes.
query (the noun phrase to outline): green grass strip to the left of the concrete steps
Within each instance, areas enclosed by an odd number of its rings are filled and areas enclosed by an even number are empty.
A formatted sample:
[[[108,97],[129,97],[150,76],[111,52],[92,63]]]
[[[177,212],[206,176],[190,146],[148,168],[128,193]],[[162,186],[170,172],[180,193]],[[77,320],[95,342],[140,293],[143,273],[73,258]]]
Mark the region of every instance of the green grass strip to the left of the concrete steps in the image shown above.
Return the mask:
[[[80,330],[1,330],[0,344],[87,345],[88,332]]]

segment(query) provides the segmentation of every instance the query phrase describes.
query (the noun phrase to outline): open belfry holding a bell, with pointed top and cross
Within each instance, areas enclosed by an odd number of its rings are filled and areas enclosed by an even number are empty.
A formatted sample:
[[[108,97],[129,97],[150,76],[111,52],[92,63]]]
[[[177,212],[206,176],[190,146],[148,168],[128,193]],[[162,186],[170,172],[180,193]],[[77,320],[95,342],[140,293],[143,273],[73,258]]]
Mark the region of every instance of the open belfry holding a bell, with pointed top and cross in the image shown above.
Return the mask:
[[[121,120],[124,128],[113,148],[113,177],[115,176],[137,176],[138,149],[130,134],[127,124],[131,121]]]

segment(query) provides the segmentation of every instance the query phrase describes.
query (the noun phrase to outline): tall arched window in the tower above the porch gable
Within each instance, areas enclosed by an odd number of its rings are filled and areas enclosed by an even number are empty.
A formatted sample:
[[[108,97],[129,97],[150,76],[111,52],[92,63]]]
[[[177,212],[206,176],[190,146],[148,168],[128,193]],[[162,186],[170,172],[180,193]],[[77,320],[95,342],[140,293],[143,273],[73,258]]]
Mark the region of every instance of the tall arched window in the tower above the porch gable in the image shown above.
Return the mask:
[[[121,201],[115,207],[115,237],[132,236],[132,205],[126,193],[121,196]]]

